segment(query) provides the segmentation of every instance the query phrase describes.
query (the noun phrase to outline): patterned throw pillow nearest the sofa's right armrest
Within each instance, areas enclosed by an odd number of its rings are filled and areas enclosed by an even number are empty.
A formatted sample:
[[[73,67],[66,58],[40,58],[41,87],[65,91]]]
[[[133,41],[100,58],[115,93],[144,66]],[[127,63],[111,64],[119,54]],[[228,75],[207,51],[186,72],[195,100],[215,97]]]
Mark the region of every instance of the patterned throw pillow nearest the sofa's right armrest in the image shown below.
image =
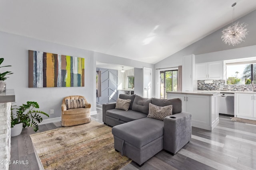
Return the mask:
[[[164,120],[164,117],[172,115],[172,105],[168,106],[156,106],[154,104],[149,104],[148,117]]]

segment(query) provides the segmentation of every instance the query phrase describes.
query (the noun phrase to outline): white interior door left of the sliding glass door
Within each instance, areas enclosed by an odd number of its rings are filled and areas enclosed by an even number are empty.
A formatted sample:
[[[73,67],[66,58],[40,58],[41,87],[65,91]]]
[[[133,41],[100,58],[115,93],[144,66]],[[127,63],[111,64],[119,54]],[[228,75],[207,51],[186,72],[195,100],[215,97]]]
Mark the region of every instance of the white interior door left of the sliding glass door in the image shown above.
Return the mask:
[[[143,97],[151,98],[151,68],[143,67]]]

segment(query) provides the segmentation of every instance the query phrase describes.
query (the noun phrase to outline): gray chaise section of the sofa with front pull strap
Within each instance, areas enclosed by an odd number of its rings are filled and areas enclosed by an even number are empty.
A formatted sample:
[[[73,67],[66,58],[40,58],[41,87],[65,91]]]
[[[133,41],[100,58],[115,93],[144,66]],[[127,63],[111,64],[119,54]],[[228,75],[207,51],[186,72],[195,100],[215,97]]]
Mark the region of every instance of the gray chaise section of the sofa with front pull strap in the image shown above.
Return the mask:
[[[142,118],[112,128],[116,150],[142,165],[163,147],[164,121]]]

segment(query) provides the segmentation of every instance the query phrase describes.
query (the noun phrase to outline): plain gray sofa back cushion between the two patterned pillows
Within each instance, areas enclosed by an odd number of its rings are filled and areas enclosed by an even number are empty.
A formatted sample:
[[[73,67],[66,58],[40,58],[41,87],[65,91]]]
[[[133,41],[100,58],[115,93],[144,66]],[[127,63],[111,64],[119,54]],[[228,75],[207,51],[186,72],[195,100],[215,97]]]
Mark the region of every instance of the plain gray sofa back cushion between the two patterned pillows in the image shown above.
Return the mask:
[[[142,98],[141,96],[136,95],[132,104],[132,110],[148,114],[149,103],[152,103],[152,98]]]

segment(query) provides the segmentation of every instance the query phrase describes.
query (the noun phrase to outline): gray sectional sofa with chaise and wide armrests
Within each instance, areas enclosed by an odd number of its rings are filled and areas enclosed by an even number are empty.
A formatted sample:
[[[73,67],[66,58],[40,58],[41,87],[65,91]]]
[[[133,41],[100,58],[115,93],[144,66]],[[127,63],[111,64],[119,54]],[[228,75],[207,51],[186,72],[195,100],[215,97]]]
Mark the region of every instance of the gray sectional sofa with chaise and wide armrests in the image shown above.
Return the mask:
[[[163,149],[176,154],[191,140],[191,114],[182,112],[180,99],[149,99],[136,94],[120,94],[119,98],[131,100],[128,111],[115,109],[116,103],[103,104],[102,119],[113,127],[114,148],[138,165]],[[148,117],[149,103],[172,105],[172,115],[163,121]]]

